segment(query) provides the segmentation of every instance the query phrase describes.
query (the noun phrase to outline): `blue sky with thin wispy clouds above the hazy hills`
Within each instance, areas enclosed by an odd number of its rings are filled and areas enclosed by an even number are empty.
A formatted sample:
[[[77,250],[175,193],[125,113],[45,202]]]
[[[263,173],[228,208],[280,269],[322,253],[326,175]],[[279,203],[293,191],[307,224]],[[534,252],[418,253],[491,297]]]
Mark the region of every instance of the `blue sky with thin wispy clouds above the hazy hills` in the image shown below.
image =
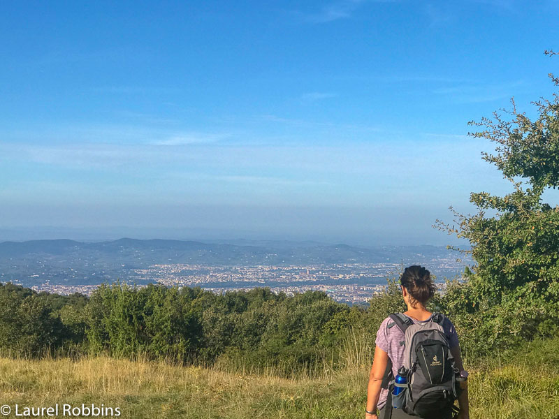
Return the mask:
[[[558,17],[558,1],[3,2],[0,240],[447,244],[431,225],[449,205],[508,190],[467,122],[551,96]]]

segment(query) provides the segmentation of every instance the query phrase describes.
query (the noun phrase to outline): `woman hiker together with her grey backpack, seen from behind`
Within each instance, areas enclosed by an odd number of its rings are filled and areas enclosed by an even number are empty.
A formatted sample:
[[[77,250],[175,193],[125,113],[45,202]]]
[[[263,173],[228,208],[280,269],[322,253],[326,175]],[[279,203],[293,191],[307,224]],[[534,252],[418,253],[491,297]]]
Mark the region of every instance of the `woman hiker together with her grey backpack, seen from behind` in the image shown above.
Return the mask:
[[[407,311],[386,318],[377,332],[365,417],[447,419],[459,395],[460,418],[468,419],[467,390],[460,393],[455,385],[463,369],[458,335],[448,318],[426,308],[436,291],[430,272],[405,268],[400,288]]]

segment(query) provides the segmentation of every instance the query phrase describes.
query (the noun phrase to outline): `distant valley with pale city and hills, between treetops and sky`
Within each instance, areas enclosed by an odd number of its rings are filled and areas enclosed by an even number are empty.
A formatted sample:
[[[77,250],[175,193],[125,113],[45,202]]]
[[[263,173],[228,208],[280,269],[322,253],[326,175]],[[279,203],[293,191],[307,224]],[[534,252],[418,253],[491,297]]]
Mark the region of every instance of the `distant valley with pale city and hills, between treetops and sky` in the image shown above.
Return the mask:
[[[313,242],[203,243],[121,239],[110,242],[36,240],[0,243],[0,282],[35,291],[90,295],[100,284],[199,286],[223,293],[269,287],[287,295],[324,291],[363,304],[402,267],[426,266],[444,286],[470,258],[446,247],[351,247]]]

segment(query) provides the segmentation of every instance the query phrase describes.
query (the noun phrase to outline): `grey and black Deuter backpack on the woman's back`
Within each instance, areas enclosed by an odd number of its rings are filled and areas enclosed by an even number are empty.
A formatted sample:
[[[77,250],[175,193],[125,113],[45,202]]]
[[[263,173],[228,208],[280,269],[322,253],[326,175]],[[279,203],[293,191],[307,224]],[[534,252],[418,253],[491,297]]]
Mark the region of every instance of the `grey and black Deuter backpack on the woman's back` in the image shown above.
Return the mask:
[[[398,374],[407,376],[407,383],[396,383],[389,365],[390,372],[384,381],[389,388],[384,418],[391,417],[392,407],[419,418],[451,418],[457,411],[454,401],[458,398],[459,371],[442,328],[447,319],[439,313],[427,323],[414,323],[401,313],[391,314],[390,318],[393,323],[388,327],[395,325],[405,334],[405,341],[400,342],[405,345],[404,365],[398,365]],[[394,387],[402,388],[398,395],[392,394]]]

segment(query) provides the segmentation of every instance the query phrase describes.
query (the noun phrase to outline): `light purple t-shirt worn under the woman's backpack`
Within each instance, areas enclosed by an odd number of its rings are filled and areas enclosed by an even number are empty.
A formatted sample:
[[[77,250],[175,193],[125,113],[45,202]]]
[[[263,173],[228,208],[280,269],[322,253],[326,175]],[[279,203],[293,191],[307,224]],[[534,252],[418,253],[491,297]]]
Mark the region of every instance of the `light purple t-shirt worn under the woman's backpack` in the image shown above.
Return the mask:
[[[406,317],[406,314],[404,314]],[[411,318],[414,323],[427,323],[433,317],[433,314],[426,320],[426,321],[419,321],[415,318]],[[377,332],[377,340],[375,343],[379,348],[381,348],[384,352],[389,354],[389,358],[392,360],[392,373],[394,376],[398,374],[398,368],[404,364],[404,346],[400,345],[400,341],[405,340],[405,335],[398,328],[397,325],[394,325],[391,328],[388,328],[389,323],[393,323],[394,321],[387,317],[382,321],[379,331]],[[456,329],[454,329],[454,325],[447,318],[444,323],[442,323],[442,329],[444,330],[444,335],[447,335],[447,338],[450,342],[450,347],[453,348],[458,346],[458,335],[456,334]],[[379,409],[386,404],[386,395],[388,395],[389,390],[382,389],[379,396],[379,403],[377,407]]]

